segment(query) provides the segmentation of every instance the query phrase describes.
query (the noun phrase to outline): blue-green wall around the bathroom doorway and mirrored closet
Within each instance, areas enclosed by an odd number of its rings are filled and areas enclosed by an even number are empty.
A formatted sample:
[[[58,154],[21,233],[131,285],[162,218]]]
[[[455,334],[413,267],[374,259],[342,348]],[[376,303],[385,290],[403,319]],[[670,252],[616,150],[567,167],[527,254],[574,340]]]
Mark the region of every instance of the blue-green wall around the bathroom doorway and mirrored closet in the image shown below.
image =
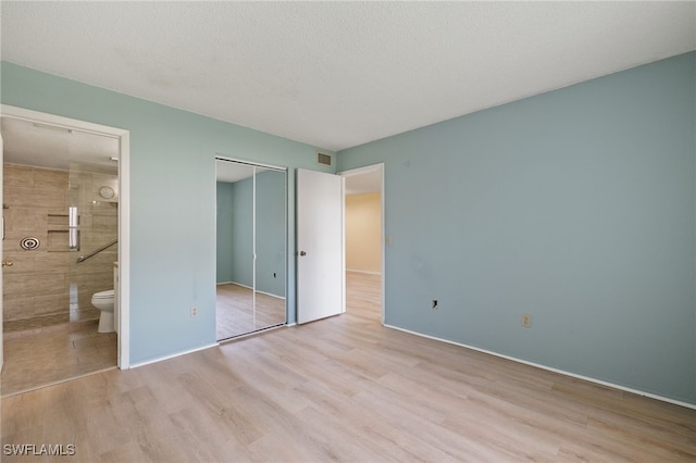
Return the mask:
[[[321,147],[1,65],[2,103],[130,130],[130,362],[215,342],[215,155],[289,167],[288,255],[295,255],[294,173],[332,172],[315,162]],[[196,318],[189,315],[192,304],[200,310]]]

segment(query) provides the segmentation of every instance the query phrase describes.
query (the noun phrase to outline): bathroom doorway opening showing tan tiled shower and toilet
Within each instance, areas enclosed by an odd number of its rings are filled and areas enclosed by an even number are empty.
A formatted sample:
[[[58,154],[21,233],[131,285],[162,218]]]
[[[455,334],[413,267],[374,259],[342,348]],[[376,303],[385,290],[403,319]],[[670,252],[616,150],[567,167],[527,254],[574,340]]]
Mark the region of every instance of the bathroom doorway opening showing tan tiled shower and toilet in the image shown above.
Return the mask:
[[[99,329],[108,310],[96,309],[92,296],[124,279],[124,132],[2,109],[2,245],[12,262],[3,272],[7,397],[120,363],[124,339]]]

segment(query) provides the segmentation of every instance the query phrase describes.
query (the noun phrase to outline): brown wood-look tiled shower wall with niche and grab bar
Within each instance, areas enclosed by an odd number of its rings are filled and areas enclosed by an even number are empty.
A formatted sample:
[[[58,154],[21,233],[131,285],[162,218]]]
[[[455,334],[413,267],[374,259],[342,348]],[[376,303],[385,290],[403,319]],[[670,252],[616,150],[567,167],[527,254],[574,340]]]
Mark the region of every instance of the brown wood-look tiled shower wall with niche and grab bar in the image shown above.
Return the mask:
[[[113,288],[117,246],[79,264],[76,260],[117,236],[117,195],[112,200],[100,198],[102,186],[117,191],[117,177],[4,164],[3,260],[13,262],[3,273],[5,331],[99,317],[91,295]],[[71,198],[78,208],[80,230],[80,249],[72,252]],[[22,249],[25,237],[38,238],[40,246]]]

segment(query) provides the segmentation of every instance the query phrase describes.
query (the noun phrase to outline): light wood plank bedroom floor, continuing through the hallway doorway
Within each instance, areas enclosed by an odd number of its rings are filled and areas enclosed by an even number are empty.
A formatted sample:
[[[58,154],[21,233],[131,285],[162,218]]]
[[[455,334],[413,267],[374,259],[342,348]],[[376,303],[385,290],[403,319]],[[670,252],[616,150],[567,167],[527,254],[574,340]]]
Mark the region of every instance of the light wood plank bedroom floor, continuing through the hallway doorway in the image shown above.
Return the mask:
[[[696,411],[385,328],[378,280],[355,276],[344,315],[5,399],[2,445],[89,462],[696,460]]]

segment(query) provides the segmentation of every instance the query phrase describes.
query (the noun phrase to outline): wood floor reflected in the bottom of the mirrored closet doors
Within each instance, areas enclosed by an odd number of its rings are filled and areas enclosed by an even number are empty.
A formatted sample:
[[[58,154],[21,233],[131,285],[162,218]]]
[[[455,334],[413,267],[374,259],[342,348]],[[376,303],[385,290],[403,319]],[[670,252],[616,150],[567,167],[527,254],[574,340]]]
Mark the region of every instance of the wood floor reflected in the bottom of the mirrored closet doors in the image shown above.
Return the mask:
[[[217,340],[285,323],[285,299],[257,291],[256,308],[253,291],[235,284],[216,287]]]

